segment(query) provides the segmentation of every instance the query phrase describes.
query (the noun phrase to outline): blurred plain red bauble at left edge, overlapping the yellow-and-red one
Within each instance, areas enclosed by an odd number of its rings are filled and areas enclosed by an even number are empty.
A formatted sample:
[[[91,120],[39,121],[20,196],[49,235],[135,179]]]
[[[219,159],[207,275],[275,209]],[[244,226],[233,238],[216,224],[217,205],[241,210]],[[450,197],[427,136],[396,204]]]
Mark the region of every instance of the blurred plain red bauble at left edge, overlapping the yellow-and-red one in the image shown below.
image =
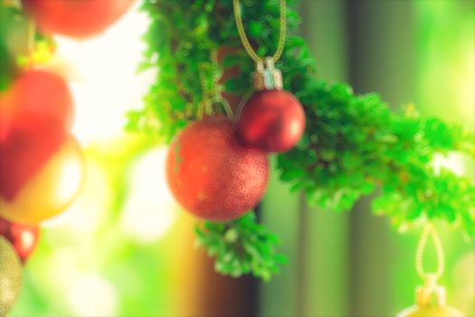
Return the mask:
[[[30,71],[0,94],[0,197],[19,190],[68,138],[72,97],[61,77]]]

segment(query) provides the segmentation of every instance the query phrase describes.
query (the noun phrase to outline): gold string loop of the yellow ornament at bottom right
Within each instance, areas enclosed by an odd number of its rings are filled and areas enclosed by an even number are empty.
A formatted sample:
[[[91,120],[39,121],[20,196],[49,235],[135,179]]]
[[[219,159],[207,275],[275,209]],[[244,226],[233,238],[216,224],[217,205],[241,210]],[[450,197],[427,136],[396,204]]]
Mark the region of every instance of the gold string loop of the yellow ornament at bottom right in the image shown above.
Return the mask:
[[[432,236],[432,243],[435,246],[435,252],[437,254],[437,269],[433,274],[426,273],[423,268],[423,253],[425,250],[425,246],[427,245],[429,235]],[[415,268],[417,270],[417,274],[419,274],[423,279],[426,279],[429,275],[432,275],[435,279],[438,279],[443,274],[444,258],[442,242],[431,223],[428,223],[424,227],[423,234],[421,235],[421,239],[419,240],[419,245],[417,245],[417,252],[415,255]]]

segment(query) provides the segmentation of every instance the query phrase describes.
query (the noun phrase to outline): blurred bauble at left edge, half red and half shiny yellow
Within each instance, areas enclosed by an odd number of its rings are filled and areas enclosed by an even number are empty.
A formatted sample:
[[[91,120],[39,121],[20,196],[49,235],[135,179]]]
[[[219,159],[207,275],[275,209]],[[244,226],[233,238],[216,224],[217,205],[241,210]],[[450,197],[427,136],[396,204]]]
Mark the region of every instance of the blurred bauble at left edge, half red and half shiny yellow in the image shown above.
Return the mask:
[[[48,139],[19,139],[0,149],[0,216],[16,224],[35,225],[64,211],[79,195],[85,160],[70,135],[57,140],[60,146],[42,164],[36,162],[34,153],[42,153]]]

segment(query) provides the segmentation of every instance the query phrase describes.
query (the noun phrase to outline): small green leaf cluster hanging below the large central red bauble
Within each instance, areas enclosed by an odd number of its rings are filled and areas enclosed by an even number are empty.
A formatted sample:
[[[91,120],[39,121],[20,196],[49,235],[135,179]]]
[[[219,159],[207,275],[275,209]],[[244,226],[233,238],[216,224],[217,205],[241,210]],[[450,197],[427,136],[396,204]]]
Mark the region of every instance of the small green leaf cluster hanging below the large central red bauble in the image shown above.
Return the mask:
[[[252,274],[269,281],[279,273],[279,265],[287,262],[275,251],[277,236],[259,225],[253,212],[227,223],[204,221],[195,227],[195,234],[196,245],[216,257],[214,269],[220,274]]]

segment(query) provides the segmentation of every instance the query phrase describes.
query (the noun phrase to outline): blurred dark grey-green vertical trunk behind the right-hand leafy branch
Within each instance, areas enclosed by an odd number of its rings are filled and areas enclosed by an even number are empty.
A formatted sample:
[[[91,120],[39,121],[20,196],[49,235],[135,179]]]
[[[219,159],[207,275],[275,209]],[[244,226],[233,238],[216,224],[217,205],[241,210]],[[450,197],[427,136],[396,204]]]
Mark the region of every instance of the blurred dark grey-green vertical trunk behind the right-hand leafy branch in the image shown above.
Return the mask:
[[[394,108],[413,101],[413,3],[352,1],[347,18],[349,82],[356,93],[377,91]],[[394,266],[401,262],[391,237],[397,233],[386,217],[372,215],[369,199],[362,199],[351,213],[349,234],[350,314],[394,315]]]

